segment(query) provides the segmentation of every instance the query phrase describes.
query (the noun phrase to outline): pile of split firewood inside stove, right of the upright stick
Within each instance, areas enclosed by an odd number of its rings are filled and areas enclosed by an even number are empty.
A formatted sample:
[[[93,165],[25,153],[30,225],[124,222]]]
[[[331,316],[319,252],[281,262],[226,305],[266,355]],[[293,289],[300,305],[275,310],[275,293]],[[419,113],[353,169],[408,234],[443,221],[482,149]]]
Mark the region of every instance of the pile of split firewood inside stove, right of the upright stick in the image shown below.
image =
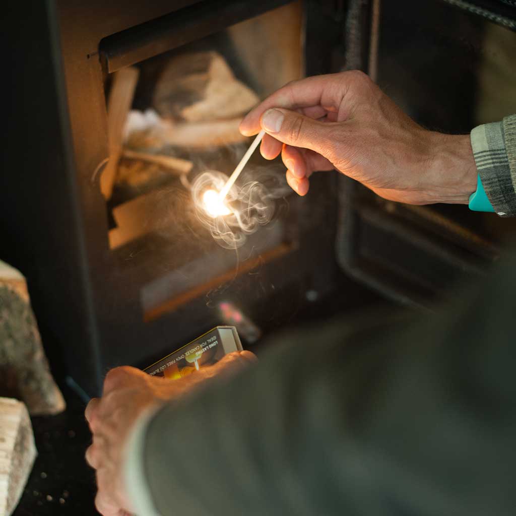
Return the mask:
[[[163,186],[163,170],[179,176],[188,187],[186,176],[192,168],[188,160],[170,154],[184,155],[246,141],[238,126],[257,102],[258,96],[234,76],[217,52],[171,58],[154,90],[156,111],[134,110],[127,118],[125,147],[118,154],[123,161],[116,181],[120,197],[124,191],[137,191],[139,195],[113,208],[117,227],[109,231],[110,249],[170,223],[170,209],[158,209],[155,193],[149,190]],[[134,164],[127,164],[131,159]]]

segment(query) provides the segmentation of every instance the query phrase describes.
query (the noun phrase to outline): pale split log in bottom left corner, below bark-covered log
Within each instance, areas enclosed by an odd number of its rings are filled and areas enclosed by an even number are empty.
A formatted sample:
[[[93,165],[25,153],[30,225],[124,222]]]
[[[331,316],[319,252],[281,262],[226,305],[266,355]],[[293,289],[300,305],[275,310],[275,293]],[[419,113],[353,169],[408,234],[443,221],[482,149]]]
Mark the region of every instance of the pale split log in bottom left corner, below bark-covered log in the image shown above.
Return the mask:
[[[10,516],[18,505],[36,454],[25,405],[0,398],[0,514]]]

